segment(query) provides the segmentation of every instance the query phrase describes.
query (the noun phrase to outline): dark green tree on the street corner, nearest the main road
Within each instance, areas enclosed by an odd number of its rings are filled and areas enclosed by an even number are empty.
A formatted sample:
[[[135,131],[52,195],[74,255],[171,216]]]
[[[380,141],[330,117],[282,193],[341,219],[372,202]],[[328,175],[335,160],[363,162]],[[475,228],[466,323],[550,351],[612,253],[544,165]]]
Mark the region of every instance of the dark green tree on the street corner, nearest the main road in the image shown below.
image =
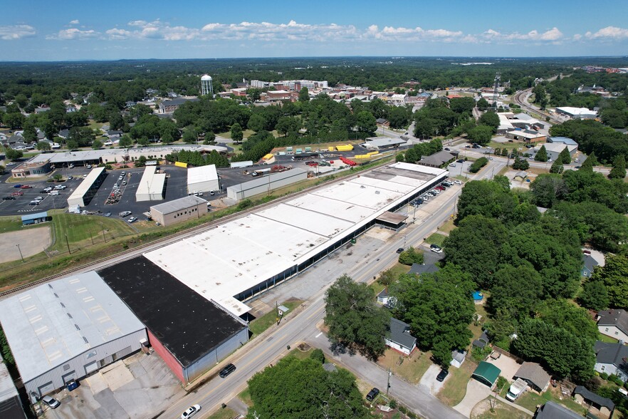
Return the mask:
[[[390,314],[377,306],[371,288],[343,275],[325,293],[325,324],[335,345],[357,348],[375,359],[386,348]]]

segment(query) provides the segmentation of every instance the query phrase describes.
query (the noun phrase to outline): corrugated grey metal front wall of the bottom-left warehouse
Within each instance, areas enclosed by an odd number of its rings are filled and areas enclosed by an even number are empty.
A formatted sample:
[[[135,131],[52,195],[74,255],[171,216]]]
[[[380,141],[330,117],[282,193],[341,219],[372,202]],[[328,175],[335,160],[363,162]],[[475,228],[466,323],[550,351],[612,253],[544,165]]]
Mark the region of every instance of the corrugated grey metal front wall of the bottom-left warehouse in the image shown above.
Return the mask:
[[[31,396],[31,391],[35,392],[38,396],[41,396],[45,393],[40,394],[39,388],[46,386],[49,383],[52,383],[52,385],[48,385],[47,388],[50,390],[56,390],[57,388],[61,388],[66,385],[63,378],[66,378],[66,381],[70,380],[70,378],[83,378],[86,375],[85,366],[93,364],[94,362],[98,363],[103,361],[103,365],[98,365],[98,368],[100,368],[108,363],[111,363],[112,355],[115,353],[117,353],[117,358],[122,358],[122,356],[127,356],[129,353],[139,351],[140,340],[142,338],[147,338],[146,329],[130,333],[127,336],[122,336],[115,341],[90,348],[84,353],[81,353],[79,356],[70,359],[70,361],[41,374],[41,376],[38,376],[37,378],[33,378],[31,381],[25,382],[24,386],[26,387],[26,391],[29,396]],[[126,348],[129,348],[127,353],[121,352]],[[74,371],[74,374],[72,374],[72,371]]]

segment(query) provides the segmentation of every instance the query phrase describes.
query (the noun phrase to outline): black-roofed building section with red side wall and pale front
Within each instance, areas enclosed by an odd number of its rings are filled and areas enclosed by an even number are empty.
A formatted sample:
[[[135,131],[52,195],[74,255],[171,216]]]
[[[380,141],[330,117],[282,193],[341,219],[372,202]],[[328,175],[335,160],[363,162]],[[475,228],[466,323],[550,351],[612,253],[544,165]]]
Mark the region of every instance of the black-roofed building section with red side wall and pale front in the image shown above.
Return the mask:
[[[245,321],[145,257],[98,273],[146,325],[152,348],[183,383],[194,381],[248,341]]]

